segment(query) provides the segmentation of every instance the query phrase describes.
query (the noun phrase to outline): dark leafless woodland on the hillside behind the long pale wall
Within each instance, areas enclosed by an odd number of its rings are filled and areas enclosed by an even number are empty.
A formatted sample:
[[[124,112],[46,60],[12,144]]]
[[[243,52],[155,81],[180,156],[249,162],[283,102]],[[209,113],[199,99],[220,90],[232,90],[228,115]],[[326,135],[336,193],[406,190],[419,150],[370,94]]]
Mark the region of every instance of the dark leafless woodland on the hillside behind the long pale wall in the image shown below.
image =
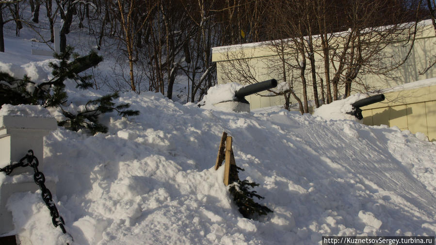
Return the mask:
[[[60,25],[61,50],[67,34],[81,29],[94,37],[97,49],[114,50],[119,79],[109,84],[113,90],[174,98],[183,76],[183,98],[196,102],[216,83],[212,47],[417,21],[431,16],[431,6],[432,0],[1,1],[0,49],[8,22],[15,23],[17,35],[24,26],[38,32],[38,23],[47,23],[51,42],[53,26]],[[324,94],[325,103],[337,99]]]

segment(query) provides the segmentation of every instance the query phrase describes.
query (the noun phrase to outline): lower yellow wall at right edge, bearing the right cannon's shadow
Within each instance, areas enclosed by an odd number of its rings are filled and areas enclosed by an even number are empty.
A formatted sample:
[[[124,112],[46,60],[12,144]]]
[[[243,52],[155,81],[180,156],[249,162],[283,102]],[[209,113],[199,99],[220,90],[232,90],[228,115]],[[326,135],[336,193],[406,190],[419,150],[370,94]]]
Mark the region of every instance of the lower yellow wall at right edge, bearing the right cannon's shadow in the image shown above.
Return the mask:
[[[396,126],[436,140],[436,85],[385,93],[386,99],[362,107],[366,125]]]

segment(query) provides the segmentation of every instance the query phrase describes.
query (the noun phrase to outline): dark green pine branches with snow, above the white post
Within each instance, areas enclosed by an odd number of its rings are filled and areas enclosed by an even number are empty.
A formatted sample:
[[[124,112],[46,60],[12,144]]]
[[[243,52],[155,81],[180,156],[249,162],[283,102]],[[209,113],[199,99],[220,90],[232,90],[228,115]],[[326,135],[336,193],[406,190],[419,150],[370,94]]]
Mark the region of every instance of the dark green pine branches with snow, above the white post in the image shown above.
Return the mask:
[[[74,60],[69,62],[73,55]],[[121,116],[138,115],[139,111],[128,110],[130,105],[122,103],[116,105],[113,100],[119,98],[118,93],[112,93],[97,99],[89,100],[85,104],[85,109],[77,113],[71,113],[64,109],[62,104],[67,101],[68,95],[65,92],[65,79],[73,79],[77,86],[86,89],[92,86],[88,82],[92,76],[80,76],[78,73],[96,66],[102,61],[95,51],[88,55],[79,57],[73,53],[73,48],[67,47],[65,52],[56,53],[54,57],[59,62],[50,62],[48,65],[52,68],[53,78],[48,82],[42,82],[35,85],[30,81],[28,76],[23,79],[15,79],[5,72],[0,72],[0,102],[1,104],[33,104],[44,107],[60,108],[65,116],[64,120],[58,122],[59,126],[73,131],[87,130],[92,134],[97,132],[107,132],[108,127],[98,121],[98,117],[104,113],[116,111]]]

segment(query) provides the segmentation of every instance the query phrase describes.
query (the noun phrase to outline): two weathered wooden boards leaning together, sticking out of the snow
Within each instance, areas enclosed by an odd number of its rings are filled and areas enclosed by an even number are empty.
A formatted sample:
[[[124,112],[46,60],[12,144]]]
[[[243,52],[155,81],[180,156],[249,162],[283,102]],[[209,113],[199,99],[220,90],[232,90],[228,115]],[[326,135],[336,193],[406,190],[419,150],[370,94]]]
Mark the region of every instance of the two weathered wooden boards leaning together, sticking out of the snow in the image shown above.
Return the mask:
[[[227,186],[228,184],[239,180],[239,176],[236,167],[235,156],[233,155],[232,137],[227,136],[226,132],[223,132],[223,137],[221,137],[218,156],[216,157],[215,170],[221,166],[223,161],[225,161],[224,184]]]

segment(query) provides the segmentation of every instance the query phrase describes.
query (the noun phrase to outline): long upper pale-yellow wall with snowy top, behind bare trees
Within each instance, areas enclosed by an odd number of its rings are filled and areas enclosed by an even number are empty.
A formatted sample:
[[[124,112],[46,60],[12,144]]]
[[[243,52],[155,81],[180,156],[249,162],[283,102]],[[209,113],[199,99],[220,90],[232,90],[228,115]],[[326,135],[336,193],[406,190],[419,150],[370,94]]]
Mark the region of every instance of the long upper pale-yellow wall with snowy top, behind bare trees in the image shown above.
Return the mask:
[[[398,77],[400,79],[393,81],[387,80],[386,78],[381,78],[378,75],[370,74],[360,76],[359,79],[366,83],[371,90],[377,90],[436,77],[436,67],[432,67],[425,74],[420,75],[420,71],[423,71],[436,55],[436,51],[434,51],[436,50],[436,37],[433,26],[429,25],[423,28],[424,31],[420,32],[419,36],[417,37],[409,59],[406,60],[404,65],[390,72],[391,77]],[[404,44],[406,44],[406,42],[404,42]],[[409,48],[409,45],[396,44],[388,46],[386,48],[386,52],[395,54],[396,60],[399,61],[406,56]],[[235,75],[237,72],[235,72],[235,69],[229,65],[231,62],[236,61],[242,61],[242,64],[244,62],[246,63],[244,67],[249,70],[250,75],[254,78],[254,81],[250,82],[262,82],[272,78],[276,79],[278,82],[283,82],[283,74],[281,71],[274,69],[274,66],[277,64],[277,62],[280,62],[277,57],[276,51],[274,51],[271,47],[268,47],[268,42],[216,47],[212,49],[212,61],[216,62],[217,64],[218,83],[239,82],[238,79],[229,78],[228,75],[228,73],[230,73],[231,76],[237,77],[237,75]],[[387,57],[387,59],[390,58]],[[321,64],[323,59],[320,52],[315,52],[315,60],[318,61],[320,67],[318,74],[323,74],[323,70],[321,68],[323,67]],[[391,61],[388,60],[388,62]],[[299,74],[296,74],[295,72],[299,73],[299,71],[287,71],[287,77],[288,81],[293,81],[293,89],[297,95],[300,96],[302,94],[302,84],[298,78]],[[333,75],[333,71],[331,72],[331,75]],[[308,84],[307,97],[309,100],[313,100],[314,97],[313,89],[311,87],[311,75],[307,74],[306,79]],[[319,78],[317,82],[320,82]],[[359,86],[357,82],[355,82],[353,86],[354,90],[365,90],[364,87],[357,87]],[[339,91],[342,92],[343,88],[339,88]],[[318,93],[320,94],[321,98],[320,84],[318,84]],[[263,99],[258,97],[258,95],[253,95],[247,98],[247,100],[250,102],[251,109],[284,104],[283,96],[279,96],[279,98],[274,99]],[[291,98],[291,100],[293,100],[293,98]],[[270,103],[268,103],[268,101],[270,101]],[[293,102],[296,103],[296,101]]]

